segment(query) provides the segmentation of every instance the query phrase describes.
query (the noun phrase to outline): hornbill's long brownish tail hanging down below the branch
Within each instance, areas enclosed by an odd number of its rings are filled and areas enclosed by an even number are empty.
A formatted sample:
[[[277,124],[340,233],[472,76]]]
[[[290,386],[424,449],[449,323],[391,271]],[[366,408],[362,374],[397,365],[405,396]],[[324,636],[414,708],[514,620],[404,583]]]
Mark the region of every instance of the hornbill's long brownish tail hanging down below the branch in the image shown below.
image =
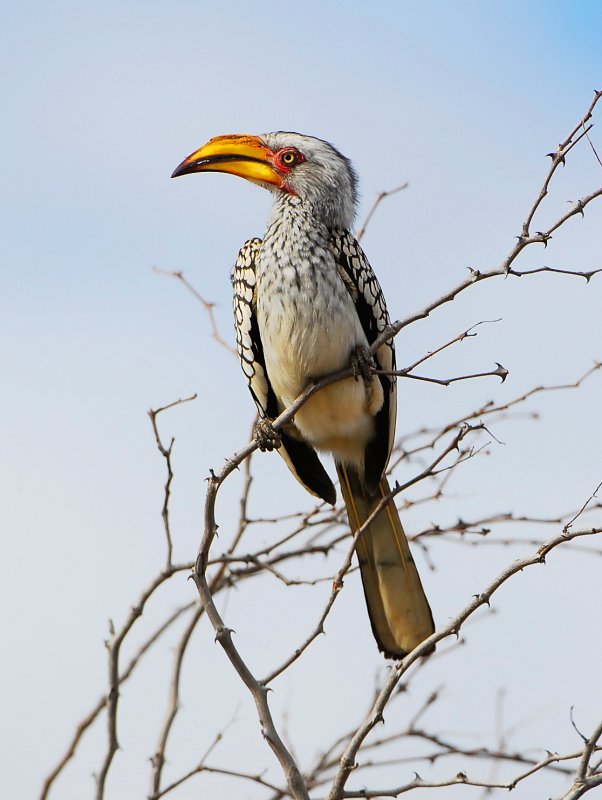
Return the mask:
[[[355,533],[391,490],[383,477],[371,495],[357,470],[336,466]],[[433,633],[435,625],[393,500],[360,536],[356,551],[374,638],[388,658],[403,658]]]

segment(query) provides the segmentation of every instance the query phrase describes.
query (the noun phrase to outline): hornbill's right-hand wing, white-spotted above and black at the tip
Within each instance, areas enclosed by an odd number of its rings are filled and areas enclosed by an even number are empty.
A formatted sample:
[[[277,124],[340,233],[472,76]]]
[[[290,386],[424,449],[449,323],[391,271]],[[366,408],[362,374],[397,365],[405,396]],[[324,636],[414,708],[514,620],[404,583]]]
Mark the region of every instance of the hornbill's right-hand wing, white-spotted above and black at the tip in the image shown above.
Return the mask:
[[[352,233],[334,230],[331,248],[343,282],[355,303],[357,315],[371,345],[389,324],[389,314],[378,278],[370,262]],[[381,345],[374,357],[378,369],[395,370],[393,340]],[[370,440],[365,454],[365,477],[372,488],[378,483],[387,467],[395,440],[397,417],[397,386],[394,376],[379,375],[384,392],[382,408],[375,418],[376,435]]]

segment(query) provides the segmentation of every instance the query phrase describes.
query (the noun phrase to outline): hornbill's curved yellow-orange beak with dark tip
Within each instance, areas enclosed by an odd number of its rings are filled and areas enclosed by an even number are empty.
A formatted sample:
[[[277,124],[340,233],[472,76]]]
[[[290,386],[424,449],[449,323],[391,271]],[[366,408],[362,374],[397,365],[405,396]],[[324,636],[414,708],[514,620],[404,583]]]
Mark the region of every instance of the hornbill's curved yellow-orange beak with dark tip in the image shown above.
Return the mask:
[[[257,136],[217,136],[185,158],[171,177],[192,172],[229,172],[254,183],[268,183],[281,189],[285,181],[273,164],[273,155]]]

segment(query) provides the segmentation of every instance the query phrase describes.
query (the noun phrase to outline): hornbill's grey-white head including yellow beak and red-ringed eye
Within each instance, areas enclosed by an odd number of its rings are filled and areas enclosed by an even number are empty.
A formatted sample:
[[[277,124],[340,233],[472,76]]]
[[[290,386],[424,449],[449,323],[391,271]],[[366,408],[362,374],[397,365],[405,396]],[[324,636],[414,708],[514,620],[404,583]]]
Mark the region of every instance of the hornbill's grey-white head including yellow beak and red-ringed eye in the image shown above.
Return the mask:
[[[229,172],[298,197],[304,208],[331,228],[351,228],[357,178],[331,144],[300,133],[235,134],[211,139],[176,167],[172,178],[191,172]]]

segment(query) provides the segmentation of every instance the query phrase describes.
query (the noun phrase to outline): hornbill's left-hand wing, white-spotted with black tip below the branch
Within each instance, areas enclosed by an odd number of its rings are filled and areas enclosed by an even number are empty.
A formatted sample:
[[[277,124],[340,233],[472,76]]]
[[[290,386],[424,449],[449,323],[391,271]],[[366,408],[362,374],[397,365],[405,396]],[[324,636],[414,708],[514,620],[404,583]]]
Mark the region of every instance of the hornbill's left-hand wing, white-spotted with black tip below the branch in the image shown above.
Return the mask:
[[[263,343],[257,325],[257,286],[255,262],[261,239],[249,239],[241,247],[232,270],[234,327],[242,370],[262,419],[274,419],[282,411],[270,383]],[[294,426],[281,430],[278,452],[288,468],[308,492],[328,503],[336,502],[336,490],[316,451],[300,438]]]

